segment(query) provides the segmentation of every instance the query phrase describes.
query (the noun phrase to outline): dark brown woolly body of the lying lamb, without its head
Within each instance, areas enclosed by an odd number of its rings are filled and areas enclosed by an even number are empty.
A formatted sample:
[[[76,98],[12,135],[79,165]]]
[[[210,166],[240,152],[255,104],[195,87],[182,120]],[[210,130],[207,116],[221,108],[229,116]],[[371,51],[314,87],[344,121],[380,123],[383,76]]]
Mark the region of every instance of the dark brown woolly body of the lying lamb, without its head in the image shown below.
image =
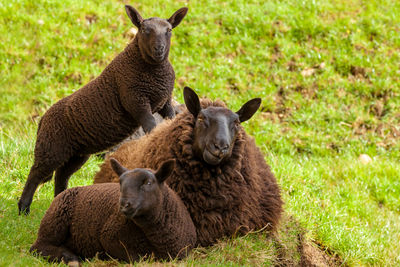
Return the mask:
[[[98,254],[129,262],[152,253],[159,259],[184,257],[194,246],[190,216],[168,186],[162,187],[162,212],[135,221],[119,211],[119,190],[119,184],[111,183],[59,194],[43,217],[31,250],[54,256],[58,250],[52,248],[62,246],[81,258]]]

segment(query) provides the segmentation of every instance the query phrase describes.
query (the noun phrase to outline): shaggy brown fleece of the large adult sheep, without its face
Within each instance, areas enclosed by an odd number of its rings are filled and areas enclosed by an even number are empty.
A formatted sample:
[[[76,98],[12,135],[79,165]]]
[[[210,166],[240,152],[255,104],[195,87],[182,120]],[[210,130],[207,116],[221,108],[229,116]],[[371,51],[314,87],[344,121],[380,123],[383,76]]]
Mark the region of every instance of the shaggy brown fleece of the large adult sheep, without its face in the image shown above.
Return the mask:
[[[225,107],[221,101],[201,101],[202,108]],[[156,169],[174,158],[167,184],[186,205],[197,229],[198,243],[212,245],[222,237],[266,228],[275,230],[282,213],[280,189],[264,156],[241,127],[230,160],[207,165],[192,150],[195,119],[184,111],[160,124],[150,135],[128,142],[111,154],[128,168]],[[95,183],[117,181],[107,159]]]

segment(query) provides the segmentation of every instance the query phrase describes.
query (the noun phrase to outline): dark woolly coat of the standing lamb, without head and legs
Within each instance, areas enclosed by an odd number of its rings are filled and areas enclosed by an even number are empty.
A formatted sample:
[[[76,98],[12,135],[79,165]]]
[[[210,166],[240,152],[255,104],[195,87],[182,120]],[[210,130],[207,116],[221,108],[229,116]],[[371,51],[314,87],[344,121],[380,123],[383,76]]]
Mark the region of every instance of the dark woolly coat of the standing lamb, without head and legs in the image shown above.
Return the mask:
[[[99,77],[45,113],[38,128],[37,160],[46,161],[51,152],[54,161],[54,151],[63,159],[102,151],[140,126],[147,103],[152,113],[170,104],[175,80],[170,62],[151,65],[139,53],[135,39]]]

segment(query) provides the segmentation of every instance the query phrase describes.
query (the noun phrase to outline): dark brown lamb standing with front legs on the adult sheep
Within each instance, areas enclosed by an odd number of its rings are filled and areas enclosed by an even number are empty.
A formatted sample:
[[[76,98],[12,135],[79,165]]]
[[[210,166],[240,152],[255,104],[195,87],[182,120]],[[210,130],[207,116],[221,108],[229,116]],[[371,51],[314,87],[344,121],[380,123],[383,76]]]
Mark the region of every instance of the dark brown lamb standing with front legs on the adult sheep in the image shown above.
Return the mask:
[[[30,212],[38,185],[51,180],[54,171],[57,196],[90,154],[116,145],[139,126],[149,133],[156,125],[154,112],[175,116],[171,106],[175,73],[168,54],[171,31],[188,9],[181,8],[166,20],[142,19],[133,7],[125,8],[139,29],[134,40],[100,76],[43,115],[34,164],[18,202],[20,214]]]

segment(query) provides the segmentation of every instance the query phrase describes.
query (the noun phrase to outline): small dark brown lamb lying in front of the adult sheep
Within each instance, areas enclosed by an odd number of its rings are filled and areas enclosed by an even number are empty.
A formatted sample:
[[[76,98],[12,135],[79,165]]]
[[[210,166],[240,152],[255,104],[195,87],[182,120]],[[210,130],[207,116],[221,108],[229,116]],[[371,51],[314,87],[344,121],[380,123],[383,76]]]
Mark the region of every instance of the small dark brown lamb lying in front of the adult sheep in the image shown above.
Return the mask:
[[[196,229],[180,198],[164,184],[175,161],[163,162],[156,172],[110,162],[120,185],[75,187],[59,194],[30,251],[71,265],[95,255],[126,262],[150,254],[185,257],[196,243]]]

